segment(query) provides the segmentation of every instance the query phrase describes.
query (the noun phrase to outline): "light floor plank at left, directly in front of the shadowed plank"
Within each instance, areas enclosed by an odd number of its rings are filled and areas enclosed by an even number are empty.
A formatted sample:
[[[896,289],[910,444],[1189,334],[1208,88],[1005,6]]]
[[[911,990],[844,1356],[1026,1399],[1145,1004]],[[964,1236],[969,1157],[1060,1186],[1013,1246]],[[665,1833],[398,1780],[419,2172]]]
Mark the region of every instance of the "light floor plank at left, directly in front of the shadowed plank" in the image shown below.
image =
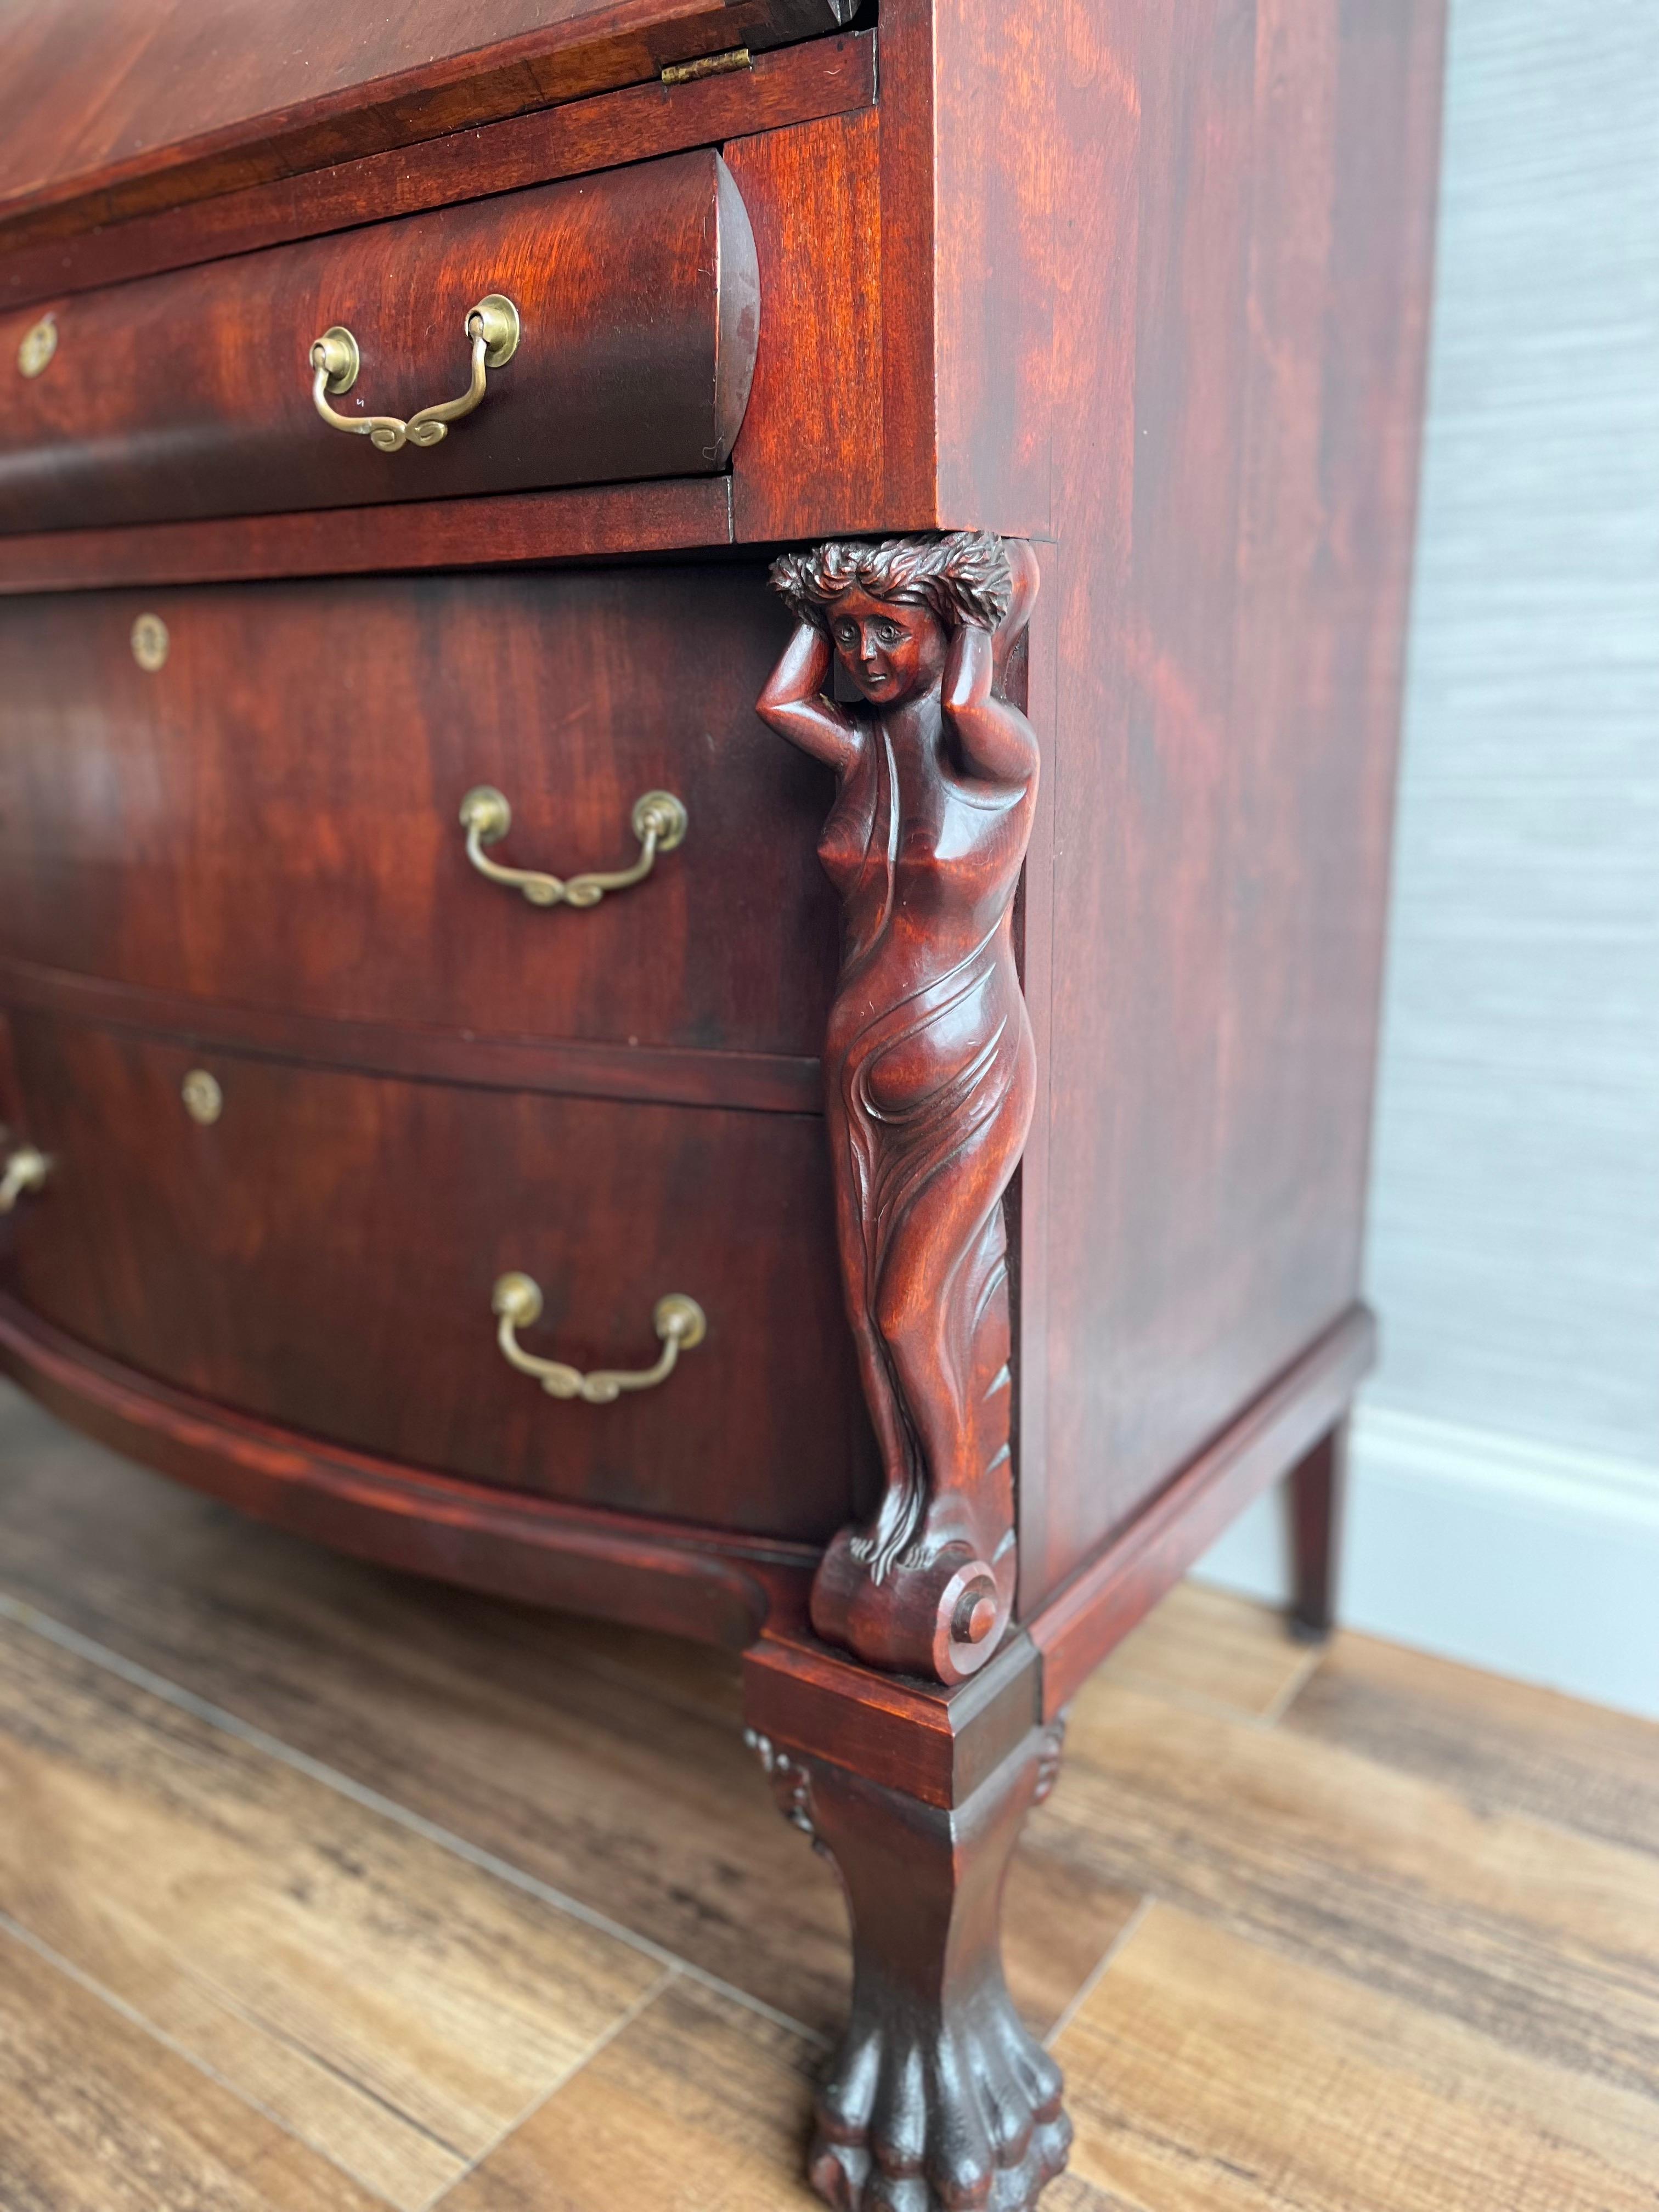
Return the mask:
[[[0,1621],[0,1911],[394,2203],[657,1962]]]

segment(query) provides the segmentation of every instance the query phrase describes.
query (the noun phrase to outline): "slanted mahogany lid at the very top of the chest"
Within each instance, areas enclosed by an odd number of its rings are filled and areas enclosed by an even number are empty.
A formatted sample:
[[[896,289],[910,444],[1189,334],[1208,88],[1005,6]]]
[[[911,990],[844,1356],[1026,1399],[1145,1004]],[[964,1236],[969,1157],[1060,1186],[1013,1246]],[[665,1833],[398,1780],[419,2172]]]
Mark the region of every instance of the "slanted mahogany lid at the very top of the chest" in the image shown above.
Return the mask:
[[[0,252],[323,168],[670,62],[845,24],[854,0],[31,0],[0,22]]]

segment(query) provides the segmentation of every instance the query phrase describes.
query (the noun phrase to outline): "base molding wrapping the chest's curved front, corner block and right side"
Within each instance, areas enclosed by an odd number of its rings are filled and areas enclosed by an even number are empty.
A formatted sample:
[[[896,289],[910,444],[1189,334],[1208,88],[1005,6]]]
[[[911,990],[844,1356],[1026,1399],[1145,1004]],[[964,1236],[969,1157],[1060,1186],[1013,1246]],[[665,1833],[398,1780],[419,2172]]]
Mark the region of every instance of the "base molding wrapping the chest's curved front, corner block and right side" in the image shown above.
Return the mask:
[[[750,1650],[748,1712],[925,1803],[958,1803],[1053,1719],[1214,1535],[1314,1453],[1376,1352],[1354,1305],[956,1690],[876,1674],[807,1626],[818,1548],[606,1513],[403,1467],[155,1383],[0,1292],[0,1374],[113,1451],[312,1542],[440,1582]],[[838,1717],[832,1723],[832,1714]]]

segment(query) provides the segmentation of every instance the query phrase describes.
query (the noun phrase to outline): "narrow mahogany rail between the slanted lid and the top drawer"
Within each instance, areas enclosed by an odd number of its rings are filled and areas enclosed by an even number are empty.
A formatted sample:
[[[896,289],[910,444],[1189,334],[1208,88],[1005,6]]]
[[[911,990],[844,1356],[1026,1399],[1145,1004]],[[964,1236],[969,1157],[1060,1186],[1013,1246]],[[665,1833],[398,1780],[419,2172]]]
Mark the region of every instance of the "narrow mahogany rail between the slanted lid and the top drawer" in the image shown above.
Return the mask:
[[[814,38],[803,46],[757,53],[750,69],[690,84],[630,84],[396,153],[272,177],[270,184],[80,237],[0,250],[0,312],[325,230],[420,215],[487,192],[515,192],[551,177],[781,131],[818,115],[867,108],[874,97],[876,35]]]

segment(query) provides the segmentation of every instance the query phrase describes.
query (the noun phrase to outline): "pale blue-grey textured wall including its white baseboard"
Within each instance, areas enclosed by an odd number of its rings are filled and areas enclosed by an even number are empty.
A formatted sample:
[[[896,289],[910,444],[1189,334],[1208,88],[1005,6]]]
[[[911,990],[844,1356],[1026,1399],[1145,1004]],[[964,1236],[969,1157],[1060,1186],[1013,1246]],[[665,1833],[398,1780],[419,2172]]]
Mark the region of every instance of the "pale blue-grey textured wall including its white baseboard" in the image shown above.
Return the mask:
[[[1659,1714],[1655,0],[1451,4],[1369,1296],[1345,1617]]]

